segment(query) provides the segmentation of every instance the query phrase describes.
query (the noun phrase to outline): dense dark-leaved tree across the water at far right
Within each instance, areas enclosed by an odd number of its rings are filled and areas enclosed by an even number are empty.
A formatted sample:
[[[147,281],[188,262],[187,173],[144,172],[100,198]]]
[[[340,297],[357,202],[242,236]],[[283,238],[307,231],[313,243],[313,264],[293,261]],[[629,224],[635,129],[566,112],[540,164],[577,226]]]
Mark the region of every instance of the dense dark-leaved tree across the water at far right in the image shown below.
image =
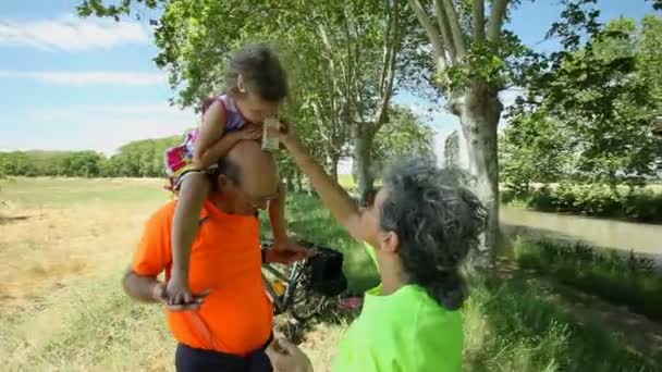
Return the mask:
[[[503,133],[512,187],[561,178],[640,185],[662,170],[662,144],[650,136],[662,98],[662,20],[647,15],[637,29],[629,18],[601,26],[598,12],[576,15],[555,26],[566,47],[531,79]]]

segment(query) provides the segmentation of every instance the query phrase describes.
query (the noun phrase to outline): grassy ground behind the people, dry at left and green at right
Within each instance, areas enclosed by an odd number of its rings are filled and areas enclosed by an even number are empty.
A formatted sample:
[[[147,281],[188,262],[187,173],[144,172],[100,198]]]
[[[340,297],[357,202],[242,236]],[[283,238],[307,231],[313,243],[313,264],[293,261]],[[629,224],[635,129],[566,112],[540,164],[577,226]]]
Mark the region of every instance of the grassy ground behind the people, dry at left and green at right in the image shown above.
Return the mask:
[[[3,371],[173,370],[174,342],[157,306],[120,288],[143,223],[168,200],[157,179],[20,178],[0,184],[0,360]],[[369,259],[318,201],[289,200],[291,230],[346,253],[351,290],[375,284]],[[655,371],[599,321],[536,280],[478,282],[464,310],[468,371]],[[327,371],[346,324],[304,340]],[[616,367],[616,368],[614,368]]]

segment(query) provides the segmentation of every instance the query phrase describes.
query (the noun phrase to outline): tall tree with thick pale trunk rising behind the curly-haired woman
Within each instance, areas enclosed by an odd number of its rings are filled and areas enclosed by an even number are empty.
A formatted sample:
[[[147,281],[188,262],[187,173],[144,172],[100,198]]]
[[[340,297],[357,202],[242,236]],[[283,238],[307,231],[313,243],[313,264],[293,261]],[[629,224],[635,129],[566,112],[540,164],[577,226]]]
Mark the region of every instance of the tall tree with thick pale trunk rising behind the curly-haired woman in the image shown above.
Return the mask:
[[[508,83],[505,59],[518,45],[502,33],[511,1],[491,1],[487,15],[485,0],[407,2],[431,45],[433,84],[451,113],[459,117],[476,191],[489,211],[482,246],[494,248],[499,237],[497,125],[503,110],[499,91]]]

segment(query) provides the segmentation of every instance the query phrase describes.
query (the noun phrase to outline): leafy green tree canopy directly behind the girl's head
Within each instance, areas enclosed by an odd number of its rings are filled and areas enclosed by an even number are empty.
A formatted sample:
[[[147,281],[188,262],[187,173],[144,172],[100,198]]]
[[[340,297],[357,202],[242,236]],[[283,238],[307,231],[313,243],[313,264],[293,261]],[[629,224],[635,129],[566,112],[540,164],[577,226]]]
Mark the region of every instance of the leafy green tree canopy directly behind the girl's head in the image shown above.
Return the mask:
[[[240,45],[274,41],[290,51],[293,62],[293,119],[318,129],[315,147],[326,149],[332,174],[350,145],[359,188],[372,187],[371,141],[389,122],[393,82],[407,64],[403,46],[416,48],[406,39],[415,18],[404,0],[126,0],[115,5],[83,0],[78,12],[119,17],[140,3],[163,7],[155,22],[156,62],[170,72],[179,91],[174,102],[196,106],[219,90],[224,62]]]

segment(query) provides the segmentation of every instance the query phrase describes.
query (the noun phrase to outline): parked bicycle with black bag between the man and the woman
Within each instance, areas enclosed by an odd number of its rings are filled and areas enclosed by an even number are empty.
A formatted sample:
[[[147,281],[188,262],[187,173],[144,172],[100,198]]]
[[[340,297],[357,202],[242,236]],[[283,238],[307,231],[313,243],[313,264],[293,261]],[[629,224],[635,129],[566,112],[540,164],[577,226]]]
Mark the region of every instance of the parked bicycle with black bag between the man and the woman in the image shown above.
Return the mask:
[[[272,241],[263,240],[262,249],[270,249]],[[299,245],[315,255],[291,266],[279,263],[262,264],[262,280],[273,302],[274,313],[290,312],[304,322],[317,315],[331,297],[347,288],[342,272],[343,255],[335,249],[309,241]]]

